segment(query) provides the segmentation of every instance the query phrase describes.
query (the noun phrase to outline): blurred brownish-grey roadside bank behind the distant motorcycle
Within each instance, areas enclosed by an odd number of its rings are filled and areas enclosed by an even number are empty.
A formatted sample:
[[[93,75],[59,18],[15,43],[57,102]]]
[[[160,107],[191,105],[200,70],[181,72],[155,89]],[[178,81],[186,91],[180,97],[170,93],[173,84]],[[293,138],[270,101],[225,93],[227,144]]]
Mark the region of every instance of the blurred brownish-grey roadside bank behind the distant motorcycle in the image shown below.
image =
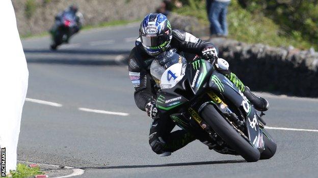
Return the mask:
[[[153,12],[160,1],[150,0],[12,0],[20,35],[47,31],[55,15],[78,5],[86,25],[113,20],[136,20]]]

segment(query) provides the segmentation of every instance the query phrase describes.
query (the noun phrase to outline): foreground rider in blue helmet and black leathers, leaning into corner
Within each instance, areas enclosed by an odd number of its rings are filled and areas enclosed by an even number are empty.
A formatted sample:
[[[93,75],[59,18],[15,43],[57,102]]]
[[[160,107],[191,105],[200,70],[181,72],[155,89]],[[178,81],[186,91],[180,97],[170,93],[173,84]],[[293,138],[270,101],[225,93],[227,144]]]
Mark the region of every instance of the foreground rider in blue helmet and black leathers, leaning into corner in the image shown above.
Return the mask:
[[[217,49],[212,43],[202,41],[182,30],[172,30],[165,15],[147,15],[140,25],[139,35],[136,47],[129,55],[129,78],[135,88],[134,97],[138,108],[147,112],[147,115],[152,118],[149,144],[156,154],[169,156],[195,140],[195,137],[185,130],[171,132],[175,123],[169,116],[157,116],[155,101],[158,88],[150,75],[150,65],[154,57],[172,48],[175,48],[178,54],[182,53],[189,60],[188,62],[197,59],[197,55],[206,60],[217,60],[215,68],[244,93],[254,104],[255,109],[268,110],[268,101],[254,95],[235,74],[230,72],[229,64],[226,60],[218,58]]]

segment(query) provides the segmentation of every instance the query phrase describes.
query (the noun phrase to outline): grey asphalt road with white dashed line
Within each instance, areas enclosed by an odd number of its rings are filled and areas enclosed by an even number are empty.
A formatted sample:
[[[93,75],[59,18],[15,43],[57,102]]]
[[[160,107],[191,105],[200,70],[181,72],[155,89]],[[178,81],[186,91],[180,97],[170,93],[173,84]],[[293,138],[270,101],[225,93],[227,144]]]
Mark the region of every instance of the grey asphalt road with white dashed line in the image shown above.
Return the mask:
[[[169,157],[154,154],[151,120],[135,105],[127,66],[118,65],[133,48],[138,27],[84,31],[57,52],[48,50],[48,37],[22,41],[30,81],[19,160],[80,167],[81,177],[317,176],[318,99],[263,94],[271,103],[268,126],[313,129],[269,130],[278,145],[270,160],[247,163],[199,141]]]

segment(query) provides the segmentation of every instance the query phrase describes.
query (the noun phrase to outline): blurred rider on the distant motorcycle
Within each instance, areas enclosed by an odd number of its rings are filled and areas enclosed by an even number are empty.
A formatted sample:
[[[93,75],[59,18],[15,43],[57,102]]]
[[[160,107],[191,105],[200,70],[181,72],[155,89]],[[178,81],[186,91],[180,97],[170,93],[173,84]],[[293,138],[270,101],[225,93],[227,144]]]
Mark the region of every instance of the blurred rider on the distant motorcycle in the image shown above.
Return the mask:
[[[80,31],[84,23],[83,14],[81,12],[78,12],[78,7],[76,5],[71,5],[67,9],[65,9],[64,11],[60,12],[58,15],[55,16],[55,24],[50,29],[50,33],[54,33],[57,30],[64,14],[69,14],[69,13],[75,16],[76,26],[75,26],[74,33],[77,33],[78,31]],[[73,34],[67,35],[66,43],[68,43],[68,40],[71,37],[71,35]]]

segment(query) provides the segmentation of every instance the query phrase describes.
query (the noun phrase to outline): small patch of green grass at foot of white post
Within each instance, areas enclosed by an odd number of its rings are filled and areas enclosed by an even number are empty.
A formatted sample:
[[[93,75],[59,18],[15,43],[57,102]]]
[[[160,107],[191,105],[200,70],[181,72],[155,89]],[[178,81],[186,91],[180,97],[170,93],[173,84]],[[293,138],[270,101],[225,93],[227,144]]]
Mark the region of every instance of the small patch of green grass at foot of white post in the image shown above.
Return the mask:
[[[43,174],[40,171],[39,167],[28,167],[25,164],[18,164],[16,171],[10,171],[11,178],[25,178],[25,177],[34,177],[38,174]]]

